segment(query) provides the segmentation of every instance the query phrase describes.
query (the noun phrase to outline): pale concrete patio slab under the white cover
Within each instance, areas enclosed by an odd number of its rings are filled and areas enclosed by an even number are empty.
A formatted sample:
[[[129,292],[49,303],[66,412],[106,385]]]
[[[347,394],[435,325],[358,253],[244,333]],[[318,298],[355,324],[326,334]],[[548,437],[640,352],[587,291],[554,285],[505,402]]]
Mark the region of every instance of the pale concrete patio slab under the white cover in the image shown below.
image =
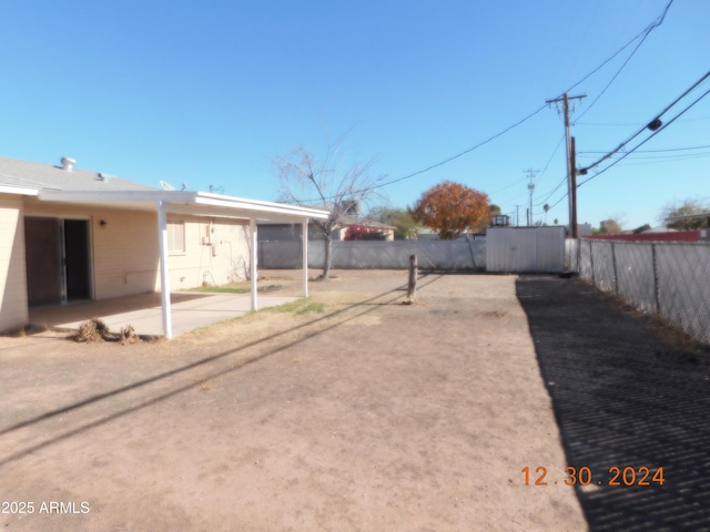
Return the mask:
[[[258,308],[297,299],[285,296],[258,296]],[[171,294],[173,336],[200,327],[243,316],[251,311],[248,294]],[[164,336],[160,293],[140,294],[101,301],[85,301],[30,310],[33,327],[78,330],[83,321],[100,318],[113,332],[131,325],[140,336]]]

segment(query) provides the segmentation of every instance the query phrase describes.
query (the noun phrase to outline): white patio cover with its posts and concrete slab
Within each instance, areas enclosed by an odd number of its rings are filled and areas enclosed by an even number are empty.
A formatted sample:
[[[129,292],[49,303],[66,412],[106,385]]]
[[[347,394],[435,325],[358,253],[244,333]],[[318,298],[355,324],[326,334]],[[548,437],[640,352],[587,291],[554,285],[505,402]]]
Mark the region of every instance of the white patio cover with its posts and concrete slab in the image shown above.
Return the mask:
[[[248,296],[215,296],[192,293],[173,295],[168,289],[161,289],[156,294],[29,310],[31,325],[73,329],[78,328],[81,321],[98,317],[102,318],[111,330],[118,331],[121,327],[131,325],[139,335],[164,336],[165,338],[172,338],[176,334],[221,319],[235,317],[250,310],[281,305],[293,299],[257,296],[257,219],[302,224],[302,294],[307,297],[308,221],[312,218],[325,218],[328,215],[325,211],[308,207],[189,191],[87,192],[41,190],[39,191],[38,200],[64,205],[93,205],[156,213],[155,229],[159,236],[158,274],[161,287],[170,286],[166,231],[166,216],[169,213],[236,218],[248,222],[248,277],[251,279],[251,295]]]

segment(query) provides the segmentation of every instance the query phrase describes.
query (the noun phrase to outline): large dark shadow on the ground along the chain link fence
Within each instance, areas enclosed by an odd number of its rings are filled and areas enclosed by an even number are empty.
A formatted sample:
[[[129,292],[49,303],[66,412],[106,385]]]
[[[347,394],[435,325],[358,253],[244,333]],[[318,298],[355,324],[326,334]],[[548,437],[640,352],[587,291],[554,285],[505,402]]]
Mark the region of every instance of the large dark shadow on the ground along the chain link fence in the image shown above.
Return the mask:
[[[574,488],[589,530],[710,530],[710,352],[665,344],[577,280],[521,277],[517,295],[567,461],[592,474]]]

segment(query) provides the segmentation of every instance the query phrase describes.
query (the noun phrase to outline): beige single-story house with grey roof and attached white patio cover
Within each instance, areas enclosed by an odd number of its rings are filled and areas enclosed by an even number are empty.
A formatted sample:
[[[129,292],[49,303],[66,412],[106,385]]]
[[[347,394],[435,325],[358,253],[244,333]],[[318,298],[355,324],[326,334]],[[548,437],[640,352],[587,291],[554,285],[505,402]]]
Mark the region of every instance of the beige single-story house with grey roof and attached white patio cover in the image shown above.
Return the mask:
[[[256,219],[327,215],[154,188],[74,163],[0,157],[0,331],[26,326],[31,307],[161,291],[170,337],[170,290],[255,278]]]

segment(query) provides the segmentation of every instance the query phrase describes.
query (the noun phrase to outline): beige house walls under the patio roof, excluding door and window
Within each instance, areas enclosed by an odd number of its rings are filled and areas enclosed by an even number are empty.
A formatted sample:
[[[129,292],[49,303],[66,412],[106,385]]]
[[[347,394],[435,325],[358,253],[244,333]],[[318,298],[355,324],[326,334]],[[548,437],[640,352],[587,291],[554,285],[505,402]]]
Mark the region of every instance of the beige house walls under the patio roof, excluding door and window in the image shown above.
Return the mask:
[[[89,221],[94,299],[160,289],[155,213],[48,204],[31,196],[0,194],[0,332],[29,320],[26,216]],[[185,253],[171,254],[168,260],[172,290],[246,278],[248,222],[169,215],[171,221],[185,223]]]

